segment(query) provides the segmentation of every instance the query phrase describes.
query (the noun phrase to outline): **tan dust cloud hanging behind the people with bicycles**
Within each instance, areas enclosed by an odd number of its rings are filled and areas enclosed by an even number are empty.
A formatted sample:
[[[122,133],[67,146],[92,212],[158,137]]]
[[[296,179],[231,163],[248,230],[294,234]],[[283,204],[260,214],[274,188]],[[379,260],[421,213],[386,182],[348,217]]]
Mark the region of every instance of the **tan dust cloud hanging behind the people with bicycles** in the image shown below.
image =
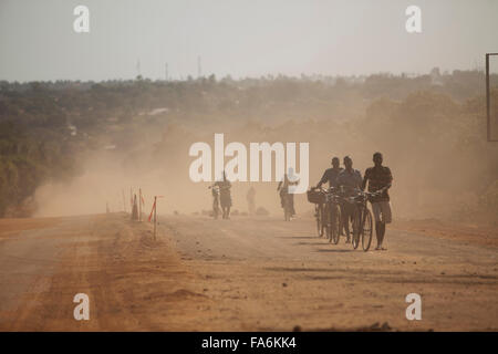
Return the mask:
[[[416,121],[419,115],[414,117],[409,112],[409,101],[421,98],[443,100],[432,104],[444,108],[428,110],[425,122]],[[247,147],[251,142],[309,143],[310,186],[319,181],[333,156],[340,157],[342,164],[342,157],[350,155],[353,167],[363,175],[372,166],[372,154],[380,150],[384,154],[384,165],[394,176],[391,196],[395,217],[447,218],[463,204],[478,204],[479,197],[470,187],[476,174],[484,174],[487,166],[475,149],[465,146],[456,149],[465,137],[459,127],[465,119],[458,118],[461,117],[459,105],[445,100],[415,96],[403,102],[378,100],[362,107],[352,104],[342,119],[284,119],[282,113],[278,118],[239,121],[206,116],[181,122],[165,114],[153,127],[144,128],[152,132],[147,139],[128,136],[126,144],[114,149],[101,148],[86,154],[80,163],[81,175],[69,183],[41,186],[35,192],[37,216],[105,212],[106,205],[111,211],[129,211],[131,189],[138,194],[138,188],[144,195],[145,215],[152,208],[154,196],[163,197],[158,201],[159,214],[209,210],[211,195],[207,187],[210,184],[190,180],[189,165],[195,157],[188,150],[193,143],[206,142],[214,152],[214,134],[224,133],[225,146],[230,142]],[[453,125],[448,125],[449,121]],[[139,124],[135,125],[134,134],[142,134],[136,126]],[[232,210],[247,212],[246,194],[253,186],[257,207],[280,216],[277,185],[274,181],[232,183]],[[311,215],[312,206],[305,194],[295,196],[295,208],[298,215]]]

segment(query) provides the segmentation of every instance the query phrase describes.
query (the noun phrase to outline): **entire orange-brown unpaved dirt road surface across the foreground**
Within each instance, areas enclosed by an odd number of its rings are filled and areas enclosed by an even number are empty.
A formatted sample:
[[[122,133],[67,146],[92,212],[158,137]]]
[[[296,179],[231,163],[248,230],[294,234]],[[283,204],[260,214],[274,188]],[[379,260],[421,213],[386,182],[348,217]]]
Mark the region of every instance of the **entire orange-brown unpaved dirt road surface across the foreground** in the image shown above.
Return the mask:
[[[123,214],[0,220],[0,330],[497,331],[495,244],[397,227],[365,253],[312,219],[169,216],[156,240]]]

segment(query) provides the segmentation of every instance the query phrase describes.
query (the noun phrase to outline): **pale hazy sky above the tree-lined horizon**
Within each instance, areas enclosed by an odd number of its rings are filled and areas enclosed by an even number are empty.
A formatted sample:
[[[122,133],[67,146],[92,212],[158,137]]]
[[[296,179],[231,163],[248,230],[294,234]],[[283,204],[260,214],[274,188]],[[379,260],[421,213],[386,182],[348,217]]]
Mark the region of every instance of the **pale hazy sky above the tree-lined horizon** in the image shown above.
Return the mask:
[[[73,9],[90,9],[75,33]],[[405,9],[422,9],[422,33]],[[0,0],[0,80],[483,69],[498,0]],[[497,60],[498,61],[498,60]],[[497,65],[498,66],[498,65]]]

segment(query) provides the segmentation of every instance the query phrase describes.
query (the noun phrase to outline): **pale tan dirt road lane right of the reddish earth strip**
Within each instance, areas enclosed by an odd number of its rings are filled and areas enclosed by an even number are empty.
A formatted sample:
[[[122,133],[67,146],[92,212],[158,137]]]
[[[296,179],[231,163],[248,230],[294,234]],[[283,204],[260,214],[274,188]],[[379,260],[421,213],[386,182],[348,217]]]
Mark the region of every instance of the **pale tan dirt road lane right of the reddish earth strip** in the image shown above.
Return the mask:
[[[215,304],[203,311],[204,330],[498,327],[494,249],[388,230],[388,251],[365,253],[319,239],[312,219],[177,216],[163,225]],[[405,319],[411,292],[423,295],[424,321]]]

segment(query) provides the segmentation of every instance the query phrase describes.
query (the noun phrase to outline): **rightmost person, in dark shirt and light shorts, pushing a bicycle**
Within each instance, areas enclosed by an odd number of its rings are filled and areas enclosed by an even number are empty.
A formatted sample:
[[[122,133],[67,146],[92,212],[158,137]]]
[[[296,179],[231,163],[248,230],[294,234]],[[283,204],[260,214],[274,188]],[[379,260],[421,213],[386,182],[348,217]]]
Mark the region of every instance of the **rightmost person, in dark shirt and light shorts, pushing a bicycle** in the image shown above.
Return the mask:
[[[369,183],[369,191],[378,194],[371,200],[372,212],[375,219],[375,233],[377,237],[377,247],[375,249],[385,250],[382,242],[384,241],[385,225],[392,221],[391,199],[387,190],[391,188],[393,175],[388,167],[382,166],[383,157],[381,153],[373,155],[373,162],[374,167],[365,170],[362,190],[365,190],[366,183]]]

